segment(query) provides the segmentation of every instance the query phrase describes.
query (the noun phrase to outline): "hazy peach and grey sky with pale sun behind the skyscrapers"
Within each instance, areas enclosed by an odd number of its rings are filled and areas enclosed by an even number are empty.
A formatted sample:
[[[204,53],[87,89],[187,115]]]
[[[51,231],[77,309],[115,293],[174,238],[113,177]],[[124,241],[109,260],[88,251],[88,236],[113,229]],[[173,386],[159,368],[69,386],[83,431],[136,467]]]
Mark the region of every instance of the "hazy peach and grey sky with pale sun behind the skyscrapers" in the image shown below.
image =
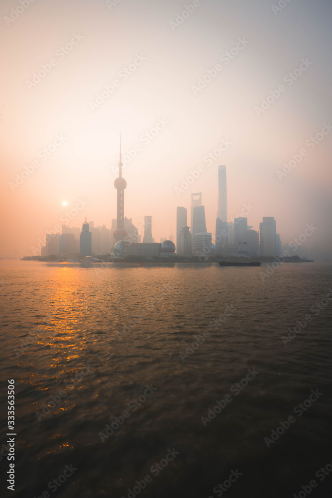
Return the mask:
[[[224,164],[228,221],[250,206],[286,245],[312,226],[329,257],[331,17],[328,0],[2,0],[0,256],[68,212],[111,228],[121,131],[124,214],[156,241],[194,192],[214,235]]]

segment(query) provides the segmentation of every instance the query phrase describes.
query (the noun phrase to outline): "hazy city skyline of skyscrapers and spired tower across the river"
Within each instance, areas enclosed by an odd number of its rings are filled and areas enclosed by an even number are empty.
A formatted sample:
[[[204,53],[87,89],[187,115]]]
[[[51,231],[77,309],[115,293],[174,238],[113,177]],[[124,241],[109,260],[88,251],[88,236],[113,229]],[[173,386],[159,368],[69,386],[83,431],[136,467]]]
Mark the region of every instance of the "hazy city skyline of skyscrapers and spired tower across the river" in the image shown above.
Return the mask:
[[[115,257],[123,257],[125,254],[138,254],[141,253],[150,254],[149,245],[154,245],[154,254],[158,253],[159,249],[156,249],[158,244],[155,244],[155,238],[152,237],[152,217],[144,217],[144,237],[143,244],[137,244],[141,239],[141,235],[138,235],[137,228],[132,224],[131,218],[127,219],[124,217],[124,189],[126,188],[126,181],[122,178],[122,160],[121,160],[121,134],[120,134],[120,153],[119,153],[119,163],[118,163],[118,174],[119,176],[114,181],[114,187],[117,190],[117,204],[116,204],[116,219],[112,219],[112,230],[107,229],[105,224],[103,226],[94,227],[94,222],[90,222],[91,231],[89,230],[89,224],[87,223],[87,217],[85,218],[85,223],[82,226],[82,233],[80,234],[79,240],[76,239],[75,235],[78,236],[80,233],[79,228],[70,228],[67,225],[62,225],[62,234],[56,234],[54,236],[45,236],[45,245],[42,246],[42,242],[39,241],[39,248],[41,249],[41,256],[48,256],[58,254],[74,254],[77,253],[78,243],[80,255],[91,255],[91,254],[115,254]],[[66,203],[64,203],[66,204]],[[245,208],[246,212],[250,212],[250,207]],[[243,213],[241,213],[243,214]],[[309,236],[311,236],[315,229],[312,229],[309,225],[306,227],[303,240],[295,241],[297,245],[284,246],[286,251],[282,250],[282,242],[280,240],[280,235],[276,233],[276,220],[274,217],[264,217],[259,225],[259,232],[252,230],[252,226],[248,225],[248,219],[246,217],[236,217],[233,222],[225,222],[227,217],[227,185],[226,185],[226,167],[224,165],[218,168],[218,210],[217,210],[217,220],[216,220],[216,239],[213,241],[212,233],[207,231],[206,217],[205,217],[205,207],[202,205],[202,192],[196,192],[191,194],[191,222],[192,222],[192,233],[187,226],[187,209],[181,206],[177,207],[176,210],[176,237],[177,245],[174,245],[175,251],[179,255],[188,256],[189,253],[192,255],[199,255],[203,259],[208,258],[210,255],[216,256],[217,254],[223,255],[247,255],[247,256],[280,256],[285,253],[289,253],[288,249],[298,250],[302,246]],[[114,228],[115,227],[115,228]],[[129,228],[127,231],[126,228]],[[141,227],[140,227],[141,228]],[[307,231],[309,229],[309,234]],[[102,233],[103,232],[103,233]],[[75,234],[75,235],[74,235]],[[93,235],[95,234],[95,235]],[[172,232],[171,232],[172,234]],[[96,238],[97,237],[97,238]],[[102,242],[103,239],[103,242]],[[160,243],[166,241],[167,248],[173,244],[171,240],[173,236],[170,235],[170,240],[165,238],[160,239]],[[191,251],[189,251],[188,244],[191,240]],[[121,242],[120,242],[121,241]],[[292,241],[293,243],[294,241]],[[125,247],[124,247],[125,243]],[[136,243],[137,248],[126,251],[128,249],[126,245],[128,243]],[[55,249],[56,244],[56,249]],[[145,244],[145,249],[142,247]],[[147,245],[147,246],[146,246]],[[138,249],[141,247],[141,249]],[[161,246],[163,247],[163,246]],[[296,247],[296,249],[295,249]],[[123,249],[124,248],[124,249]],[[38,249],[36,247],[31,248],[33,255],[38,254]],[[124,254],[123,254],[124,250]],[[138,252],[137,252],[138,251]],[[163,251],[165,252],[165,250]],[[166,250],[167,252],[167,250]],[[303,254],[302,254],[303,255]]]

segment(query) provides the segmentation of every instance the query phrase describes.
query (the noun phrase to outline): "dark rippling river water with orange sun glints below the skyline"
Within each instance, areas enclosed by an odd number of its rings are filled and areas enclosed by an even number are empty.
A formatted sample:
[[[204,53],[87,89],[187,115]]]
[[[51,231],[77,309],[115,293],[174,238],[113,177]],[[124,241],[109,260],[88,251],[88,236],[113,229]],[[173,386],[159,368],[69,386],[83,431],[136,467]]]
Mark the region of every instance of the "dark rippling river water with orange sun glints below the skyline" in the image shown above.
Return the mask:
[[[267,270],[0,261],[3,496],[331,498],[332,265]]]

